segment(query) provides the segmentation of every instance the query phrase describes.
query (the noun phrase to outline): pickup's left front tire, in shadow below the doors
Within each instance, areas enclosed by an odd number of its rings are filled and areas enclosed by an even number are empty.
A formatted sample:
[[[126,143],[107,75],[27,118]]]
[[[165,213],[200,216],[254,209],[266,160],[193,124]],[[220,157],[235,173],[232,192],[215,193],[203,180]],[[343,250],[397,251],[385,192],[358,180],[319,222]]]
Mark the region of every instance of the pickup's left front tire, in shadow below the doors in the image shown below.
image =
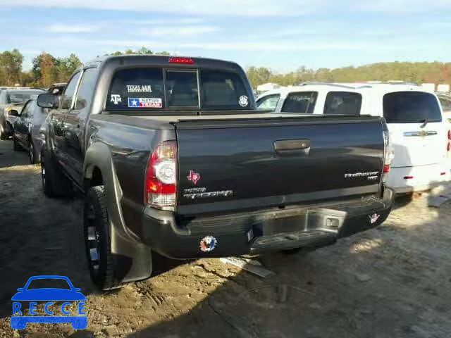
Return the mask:
[[[66,176],[58,170],[54,157],[47,151],[41,153],[42,189],[47,197],[70,196],[73,192],[72,184]]]

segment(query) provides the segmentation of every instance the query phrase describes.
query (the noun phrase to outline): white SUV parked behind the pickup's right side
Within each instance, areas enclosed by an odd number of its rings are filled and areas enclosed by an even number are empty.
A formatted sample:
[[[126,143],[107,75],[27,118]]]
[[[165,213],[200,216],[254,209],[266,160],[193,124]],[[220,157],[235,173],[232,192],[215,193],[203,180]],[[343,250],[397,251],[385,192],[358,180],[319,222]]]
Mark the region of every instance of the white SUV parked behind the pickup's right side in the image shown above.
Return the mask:
[[[383,116],[395,147],[388,186],[402,194],[451,180],[450,124],[437,96],[419,86],[308,83],[266,92],[257,106],[276,113]]]

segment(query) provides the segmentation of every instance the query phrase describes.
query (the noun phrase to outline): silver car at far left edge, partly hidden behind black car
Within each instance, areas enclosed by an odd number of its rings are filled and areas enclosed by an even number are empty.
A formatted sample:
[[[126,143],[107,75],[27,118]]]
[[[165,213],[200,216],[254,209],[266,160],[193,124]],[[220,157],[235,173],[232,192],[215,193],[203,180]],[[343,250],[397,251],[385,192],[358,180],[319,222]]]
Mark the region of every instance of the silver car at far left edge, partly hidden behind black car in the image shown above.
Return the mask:
[[[41,93],[44,93],[41,89],[6,89],[0,92],[0,139],[12,135],[12,123],[16,117],[9,118],[9,112],[19,112],[32,95]]]

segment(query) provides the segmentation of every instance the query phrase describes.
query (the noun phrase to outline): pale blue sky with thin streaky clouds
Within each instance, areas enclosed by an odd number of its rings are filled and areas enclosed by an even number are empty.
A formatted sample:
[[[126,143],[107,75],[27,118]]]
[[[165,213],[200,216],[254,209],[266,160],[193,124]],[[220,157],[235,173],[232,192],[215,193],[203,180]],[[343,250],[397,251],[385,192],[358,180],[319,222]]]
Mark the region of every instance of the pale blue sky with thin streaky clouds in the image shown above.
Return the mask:
[[[279,73],[451,61],[451,0],[0,0],[1,50],[169,51]]]

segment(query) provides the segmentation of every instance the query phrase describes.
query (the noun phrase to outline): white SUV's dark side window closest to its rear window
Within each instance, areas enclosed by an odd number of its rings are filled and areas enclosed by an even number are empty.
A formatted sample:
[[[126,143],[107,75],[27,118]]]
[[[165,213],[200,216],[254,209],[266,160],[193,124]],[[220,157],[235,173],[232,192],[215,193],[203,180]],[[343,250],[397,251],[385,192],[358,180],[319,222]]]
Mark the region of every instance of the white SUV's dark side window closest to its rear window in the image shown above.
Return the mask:
[[[352,92],[329,92],[324,104],[324,114],[360,115],[362,95]]]

